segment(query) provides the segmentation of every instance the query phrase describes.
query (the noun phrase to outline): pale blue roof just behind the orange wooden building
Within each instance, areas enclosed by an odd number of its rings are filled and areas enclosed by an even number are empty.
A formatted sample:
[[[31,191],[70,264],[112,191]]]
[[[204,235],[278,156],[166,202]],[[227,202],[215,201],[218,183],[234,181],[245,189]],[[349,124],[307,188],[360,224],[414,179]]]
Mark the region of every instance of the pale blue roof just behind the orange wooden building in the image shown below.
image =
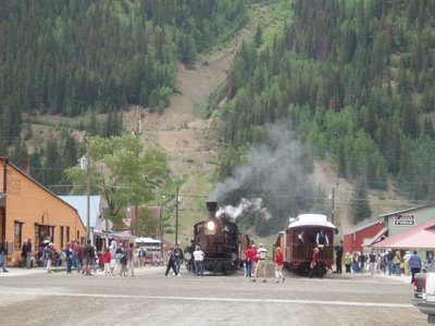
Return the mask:
[[[84,225],[87,225],[88,197],[87,196],[59,196],[61,200],[76,209]],[[101,196],[89,196],[89,226],[101,228],[99,221],[102,218],[100,211]]]

